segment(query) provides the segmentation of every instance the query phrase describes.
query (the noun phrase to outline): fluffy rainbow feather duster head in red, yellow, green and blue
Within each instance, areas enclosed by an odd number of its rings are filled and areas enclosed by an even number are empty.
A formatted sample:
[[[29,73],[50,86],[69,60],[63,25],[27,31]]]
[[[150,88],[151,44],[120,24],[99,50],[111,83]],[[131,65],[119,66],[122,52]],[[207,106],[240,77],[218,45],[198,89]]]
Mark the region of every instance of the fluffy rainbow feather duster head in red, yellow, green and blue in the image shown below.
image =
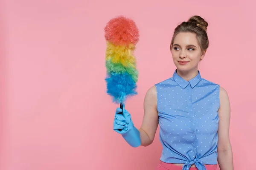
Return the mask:
[[[114,103],[120,103],[122,106],[128,96],[137,94],[139,73],[134,50],[139,41],[139,30],[133,20],[119,16],[107,23],[105,39],[107,93],[112,96]]]

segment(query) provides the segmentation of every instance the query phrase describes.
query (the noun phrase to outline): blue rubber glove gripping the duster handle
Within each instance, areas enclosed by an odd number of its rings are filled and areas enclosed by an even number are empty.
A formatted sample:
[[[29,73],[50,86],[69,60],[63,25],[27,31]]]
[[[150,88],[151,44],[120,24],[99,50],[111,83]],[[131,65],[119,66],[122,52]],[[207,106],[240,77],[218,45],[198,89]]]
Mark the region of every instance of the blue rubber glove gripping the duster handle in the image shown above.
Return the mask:
[[[116,108],[114,130],[117,133],[120,133],[125,141],[132,147],[139,147],[141,144],[140,131],[134,127],[134,124],[131,120],[131,114],[125,110],[125,105],[123,105],[122,114],[120,114],[121,112],[121,108]]]

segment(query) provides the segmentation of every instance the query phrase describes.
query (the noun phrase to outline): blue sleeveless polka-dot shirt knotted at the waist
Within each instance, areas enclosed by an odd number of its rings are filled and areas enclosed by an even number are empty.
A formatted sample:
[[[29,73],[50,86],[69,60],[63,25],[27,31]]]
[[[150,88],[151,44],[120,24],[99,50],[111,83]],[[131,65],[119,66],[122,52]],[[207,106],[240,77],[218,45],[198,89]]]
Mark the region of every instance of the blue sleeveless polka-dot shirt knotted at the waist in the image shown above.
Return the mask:
[[[182,170],[192,164],[206,170],[204,164],[217,164],[220,86],[201,78],[199,71],[189,81],[176,71],[155,85],[163,145],[160,160],[183,164]]]

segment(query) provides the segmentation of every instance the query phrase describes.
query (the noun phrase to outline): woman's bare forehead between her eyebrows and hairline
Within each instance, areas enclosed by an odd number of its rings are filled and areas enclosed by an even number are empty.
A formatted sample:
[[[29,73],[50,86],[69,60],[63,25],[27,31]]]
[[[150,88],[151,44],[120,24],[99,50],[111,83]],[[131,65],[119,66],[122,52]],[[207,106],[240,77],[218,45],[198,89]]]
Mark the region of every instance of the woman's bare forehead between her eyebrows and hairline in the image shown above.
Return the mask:
[[[193,34],[191,32],[182,32],[176,35],[173,44],[179,44],[181,46],[185,45],[198,45],[198,40],[196,38],[196,34]]]

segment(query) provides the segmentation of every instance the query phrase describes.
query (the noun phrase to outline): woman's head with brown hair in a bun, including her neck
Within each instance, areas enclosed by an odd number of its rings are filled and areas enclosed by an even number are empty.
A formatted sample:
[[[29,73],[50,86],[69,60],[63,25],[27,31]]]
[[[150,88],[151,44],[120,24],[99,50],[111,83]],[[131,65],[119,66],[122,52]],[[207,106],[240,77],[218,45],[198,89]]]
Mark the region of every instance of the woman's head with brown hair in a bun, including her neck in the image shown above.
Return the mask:
[[[202,17],[193,16],[175,28],[170,50],[178,73],[189,71],[196,74],[198,62],[204,58],[209,47],[207,26],[208,23]],[[186,65],[186,67],[180,67],[180,65]]]

